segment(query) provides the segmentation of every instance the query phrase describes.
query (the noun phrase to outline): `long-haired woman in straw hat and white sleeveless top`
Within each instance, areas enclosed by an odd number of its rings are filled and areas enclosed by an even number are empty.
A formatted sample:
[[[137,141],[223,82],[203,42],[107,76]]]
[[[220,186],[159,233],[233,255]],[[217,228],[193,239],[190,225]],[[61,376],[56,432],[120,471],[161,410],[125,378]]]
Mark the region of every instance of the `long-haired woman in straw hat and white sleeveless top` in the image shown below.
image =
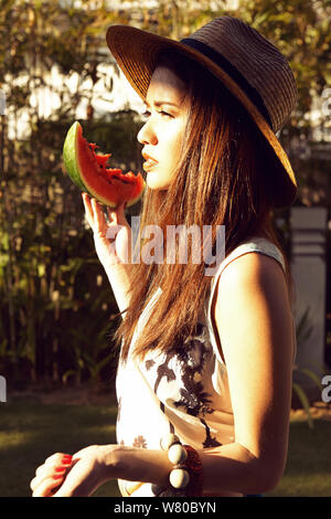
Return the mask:
[[[33,495],[88,496],[110,478],[134,497],[268,491],[287,458],[295,356],[290,273],[273,229],[273,209],[296,195],[275,136],[295,106],[292,73],[270,42],[232,17],[182,42],[116,25],[107,42],[147,106],[139,262],[124,206],[109,212],[109,247],[103,211],[83,193],[124,316],[118,443],[54,454],[36,470]],[[153,261],[151,224],[162,237]],[[175,244],[169,230],[179,225]],[[209,241],[212,255],[193,261],[192,235],[182,262],[180,240],[192,225],[211,230],[201,250]]]

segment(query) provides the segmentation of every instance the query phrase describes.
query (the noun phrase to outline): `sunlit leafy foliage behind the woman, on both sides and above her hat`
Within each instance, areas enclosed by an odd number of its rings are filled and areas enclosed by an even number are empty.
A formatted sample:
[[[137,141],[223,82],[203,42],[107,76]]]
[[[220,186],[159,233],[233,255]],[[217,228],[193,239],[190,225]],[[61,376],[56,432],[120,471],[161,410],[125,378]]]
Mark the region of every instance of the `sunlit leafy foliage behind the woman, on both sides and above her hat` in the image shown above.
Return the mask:
[[[253,23],[287,55],[298,81],[298,107],[281,136],[289,149],[293,136],[308,134],[312,93],[330,81],[330,2],[296,0],[280,9],[275,0],[243,0],[229,12],[210,0],[160,0],[156,9],[132,2],[129,10],[102,0],[83,0],[79,8],[70,0],[1,0],[0,7],[0,88],[8,115],[0,118],[0,373],[17,385],[99,380],[116,363],[117,321],[110,316],[117,307],[79,193],[63,174],[62,146],[84,102],[87,139],[113,153],[114,167],[139,170],[137,115],[95,114],[92,106],[97,83],[104,85],[100,98],[109,99],[118,74],[107,27],[132,23],[181,39],[221,14]],[[54,71],[62,82],[50,86]],[[44,86],[57,99],[57,108],[45,114],[38,96]],[[302,162],[296,166],[305,172]],[[307,176],[302,183],[310,188]]]

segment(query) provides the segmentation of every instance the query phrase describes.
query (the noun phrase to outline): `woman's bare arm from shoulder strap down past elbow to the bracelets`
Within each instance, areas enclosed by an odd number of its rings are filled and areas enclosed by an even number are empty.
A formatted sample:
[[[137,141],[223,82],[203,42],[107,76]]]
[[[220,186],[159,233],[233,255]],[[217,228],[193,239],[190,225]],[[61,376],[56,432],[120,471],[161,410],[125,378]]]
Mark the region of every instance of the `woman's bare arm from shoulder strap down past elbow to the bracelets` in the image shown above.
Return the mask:
[[[292,322],[280,265],[256,253],[229,264],[218,283],[215,322],[235,442],[205,455],[205,486],[266,491],[284,473],[291,401]]]

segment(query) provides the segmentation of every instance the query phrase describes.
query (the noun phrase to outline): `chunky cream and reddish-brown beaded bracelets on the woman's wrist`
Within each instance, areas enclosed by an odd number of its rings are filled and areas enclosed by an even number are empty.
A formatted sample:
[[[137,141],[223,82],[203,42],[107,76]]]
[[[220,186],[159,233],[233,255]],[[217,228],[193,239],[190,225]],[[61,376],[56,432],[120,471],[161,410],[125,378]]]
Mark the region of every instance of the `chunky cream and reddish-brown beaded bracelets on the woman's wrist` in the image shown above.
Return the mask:
[[[169,475],[171,487],[175,496],[202,496],[202,463],[197,452],[190,445],[182,445],[175,434],[169,434],[161,438],[162,451],[168,451],[168,458],[173,464]],[[158,496],[168,497],[171,490],[153,485],[153,492]],[[173,490],[172,490],[173,492]]]

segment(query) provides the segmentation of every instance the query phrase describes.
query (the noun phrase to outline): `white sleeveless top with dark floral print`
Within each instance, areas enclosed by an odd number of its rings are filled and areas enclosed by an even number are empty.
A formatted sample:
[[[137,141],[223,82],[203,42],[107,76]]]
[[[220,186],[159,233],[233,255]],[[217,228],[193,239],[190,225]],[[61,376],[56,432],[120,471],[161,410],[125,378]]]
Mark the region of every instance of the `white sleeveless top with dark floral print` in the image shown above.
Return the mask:
[[[234,258],[250,252],[274,257],[285,269],[280,251],[268,240],[257,237],[241,244],[220,264],[197,320],[196,333],[186,338],[181,352],[152,350],[142,363],[130,354],[125,364],[119,359],[116,377],[118,444],[159,449],[160,438],[169,432],[175,433],[183,444],[199,449],[234,442],[227,370],[214,335],[211,308],[223,269]],[[130,352],[161,294],[159,288],[142,311]],[[293,337],[296,341],[295,321]],[[119,479],[118,485],[125,497],[154,496],[151,484]],[[224,492],[222,496],[242,494]]]

